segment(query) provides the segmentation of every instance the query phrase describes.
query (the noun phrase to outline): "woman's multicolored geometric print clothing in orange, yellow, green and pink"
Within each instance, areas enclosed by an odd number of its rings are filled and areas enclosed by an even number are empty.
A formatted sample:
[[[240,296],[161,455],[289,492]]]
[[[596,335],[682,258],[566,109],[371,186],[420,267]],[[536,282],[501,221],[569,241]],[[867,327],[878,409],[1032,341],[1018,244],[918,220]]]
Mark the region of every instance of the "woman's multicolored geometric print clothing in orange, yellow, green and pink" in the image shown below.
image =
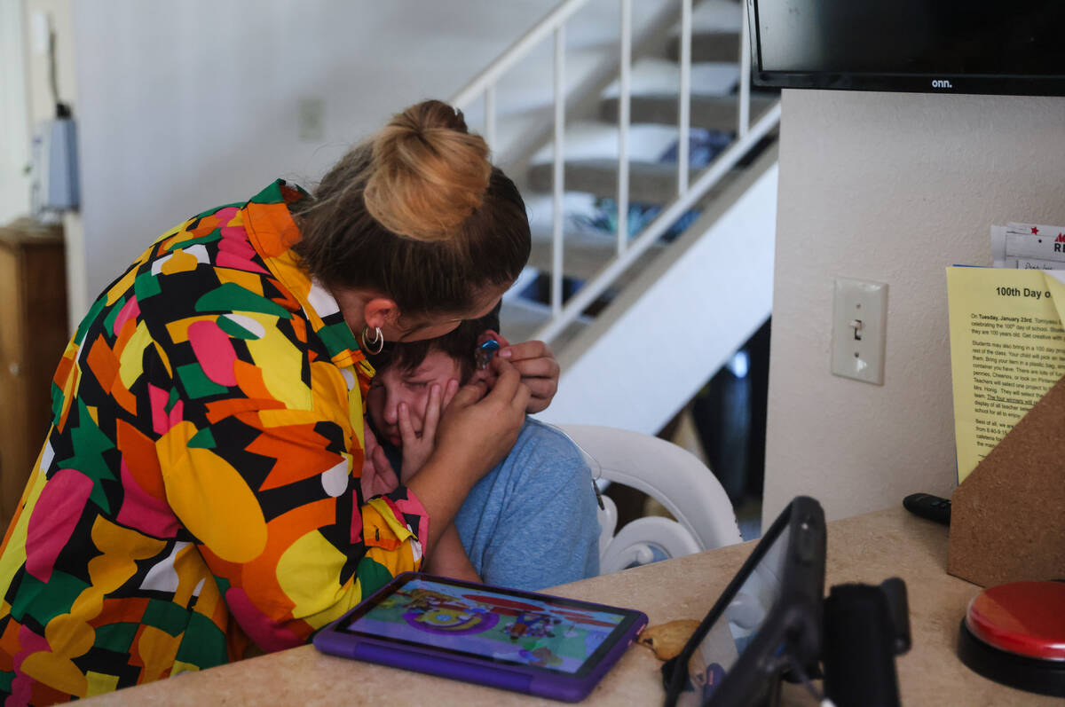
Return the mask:
[[[421,565],[413,494],[362,498],[374,372],[291,250],[304,197],[169,231],[78,328],[0,547],[4,705],[305,643]]]

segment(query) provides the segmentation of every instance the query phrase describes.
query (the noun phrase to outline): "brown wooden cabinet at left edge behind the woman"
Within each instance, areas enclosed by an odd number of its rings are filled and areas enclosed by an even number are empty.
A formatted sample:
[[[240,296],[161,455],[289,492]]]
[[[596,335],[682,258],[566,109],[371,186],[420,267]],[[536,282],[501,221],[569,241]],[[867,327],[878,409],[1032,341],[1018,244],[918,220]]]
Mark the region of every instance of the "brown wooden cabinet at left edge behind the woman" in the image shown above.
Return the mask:
[[[69,339],[63,231],[0,227],[0,528],[51,423],[51,379]]]

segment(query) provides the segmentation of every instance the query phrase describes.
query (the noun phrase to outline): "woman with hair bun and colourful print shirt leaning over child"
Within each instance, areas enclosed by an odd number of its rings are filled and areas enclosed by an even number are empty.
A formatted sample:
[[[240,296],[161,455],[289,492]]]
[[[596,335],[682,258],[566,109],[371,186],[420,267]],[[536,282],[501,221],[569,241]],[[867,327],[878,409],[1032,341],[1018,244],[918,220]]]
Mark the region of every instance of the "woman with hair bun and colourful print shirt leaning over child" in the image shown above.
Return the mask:
[[[278,181],[207,211],[105,290],[0,548],[5,704],[298,645],[420,566],[557,379],[542,345],[512,347],[491,392],[455,395],[422,471],[363,494],[364,351],[485,314],[528,256],[487,155],[460,114],[415,105],[313,197]]]

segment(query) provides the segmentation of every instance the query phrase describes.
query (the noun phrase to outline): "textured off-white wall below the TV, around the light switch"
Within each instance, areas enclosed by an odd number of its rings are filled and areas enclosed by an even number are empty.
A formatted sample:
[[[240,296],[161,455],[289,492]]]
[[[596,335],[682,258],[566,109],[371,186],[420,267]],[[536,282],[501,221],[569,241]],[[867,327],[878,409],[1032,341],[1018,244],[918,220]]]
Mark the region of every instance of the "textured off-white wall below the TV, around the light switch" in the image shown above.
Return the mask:
[[[1065,224],[1065,98],[785,91],[764,519],[956,481],[944,268]],[[829,373],[832,281],[887,282],[884,385]]]

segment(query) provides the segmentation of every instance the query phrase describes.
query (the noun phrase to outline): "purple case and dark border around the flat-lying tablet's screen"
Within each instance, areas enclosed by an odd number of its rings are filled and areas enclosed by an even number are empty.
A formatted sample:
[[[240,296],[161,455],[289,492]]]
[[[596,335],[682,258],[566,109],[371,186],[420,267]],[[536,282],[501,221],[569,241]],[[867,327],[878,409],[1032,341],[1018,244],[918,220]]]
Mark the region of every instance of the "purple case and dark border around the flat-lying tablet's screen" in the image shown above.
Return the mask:
[[[398,640],[388,638],[373,638],[368,636],[355,636],[338,630],[338,626],[346,625],[348,618],[354,613],[365,613],[367,606],[376,606],[379,599],[391,594],[395,589],[402,587],[412,579],[424,579],[435,582],[443,582],[453,587],[473,589],[475,591],[496,592],[515,598],[537,597],[544,602],[560,602],[566,605],[580,605],[587,609],[606,610],[611,613],[633,616],[630,623],[624,627],[622,632],[615,636],[611,634],[612,644],[607,652],[593,664],[585,675],[574,675],[564,673],[552,673],[539,670],[535,667],[523,667],[513,664],[501,664],[492,662],[490,658],[477,658],[474,656],[457,655],[447,653],[445,648],[438,648],[432,645],[419,645],[412,643],[400,643]],[[360,616],[361,618],[361,616]],[[356,620],[358,621],[358,620]],[[624,623],[623,620],[622,623]],[[502,587],[490,585],[472,585],[444,577],[435,577],[421,573],[405,573],[397,576],[391,582],[382,587],[373,596],[363,601],[347,614],[333,622],[326,628],[318,631],[314,637],[314,647],[323,653],[354,658],[366,662],[380,663],[405,670],[413,670],[420,673],[439,675],[452,679],[476,683],[489,687],[512,690],[535,694],[552,700],[564,702],[578,702],[584,700],[592,688],[603,679],[603,676],[613,667],[618,659],[648,624],[645,614],[632,609],[621,609],[591,602],[580,602],[577,599],[567,599],[552,596],[539,592],[519,592]],[[617,630],[615,631],[617,632]]]

